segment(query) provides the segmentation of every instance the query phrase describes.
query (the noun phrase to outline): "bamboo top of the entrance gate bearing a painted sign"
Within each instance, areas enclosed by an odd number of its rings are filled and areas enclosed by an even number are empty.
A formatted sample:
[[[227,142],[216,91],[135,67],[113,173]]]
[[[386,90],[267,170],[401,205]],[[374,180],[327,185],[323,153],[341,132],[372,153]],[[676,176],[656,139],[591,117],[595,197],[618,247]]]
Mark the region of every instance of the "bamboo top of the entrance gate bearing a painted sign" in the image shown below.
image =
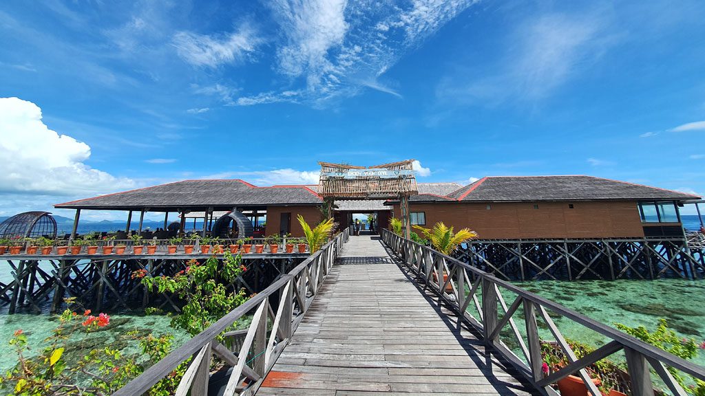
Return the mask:
[[[319,195],[348,199],[394,199],[403,195],[418,194],[412,161],[410,159],[367,168],[319,162]],[[365,170],[369,170],[368,174],[364,174]],[[379,170],[391,172],[380,176]]]

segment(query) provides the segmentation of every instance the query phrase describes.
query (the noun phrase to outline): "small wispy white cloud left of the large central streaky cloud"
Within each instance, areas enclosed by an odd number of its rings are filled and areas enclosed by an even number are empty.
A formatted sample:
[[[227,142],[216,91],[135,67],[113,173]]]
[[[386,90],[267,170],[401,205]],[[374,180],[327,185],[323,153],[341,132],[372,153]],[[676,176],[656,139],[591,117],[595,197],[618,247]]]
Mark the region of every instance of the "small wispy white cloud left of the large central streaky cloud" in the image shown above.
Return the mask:
[[[200,35],[194,32],[178,32],[173,45],[184,61],[194,66],[216,68],[227,63],[238,63],[255,51],[262,42],[249,25],[236,32],[222,35]]]

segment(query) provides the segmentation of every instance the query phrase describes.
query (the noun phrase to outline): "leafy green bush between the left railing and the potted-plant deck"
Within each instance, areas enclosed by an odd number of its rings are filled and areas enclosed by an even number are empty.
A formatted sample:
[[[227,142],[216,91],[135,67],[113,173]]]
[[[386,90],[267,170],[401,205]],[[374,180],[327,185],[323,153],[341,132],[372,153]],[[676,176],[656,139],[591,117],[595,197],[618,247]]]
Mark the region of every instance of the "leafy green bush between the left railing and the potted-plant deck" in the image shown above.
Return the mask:
[[[226,251],[222,265],[216,256],[210,256],[203,264],[188,261],[186,269],[175,276],[152,277],[135,271],[135,277],[143,277],[142,285],[149,290],[176,293],[183,299],[186,304],[180,314],[171,318],[171,326],[197,335],[247,301],[245,290],[233,293],[226,287],[245,270],[242,257]]]

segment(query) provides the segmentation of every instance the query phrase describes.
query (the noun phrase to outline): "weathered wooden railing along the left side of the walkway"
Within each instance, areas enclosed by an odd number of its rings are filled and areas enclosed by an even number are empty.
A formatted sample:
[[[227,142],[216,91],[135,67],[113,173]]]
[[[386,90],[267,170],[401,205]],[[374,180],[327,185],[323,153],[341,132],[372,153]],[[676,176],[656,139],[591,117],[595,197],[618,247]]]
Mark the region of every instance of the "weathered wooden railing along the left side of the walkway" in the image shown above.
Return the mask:
[[[232,367],[225,396],[254,394],[288,344],[349,235],[348,230],[343,230],[287,275],[195,335],[114,395],[142,395],[192,357],[176,395],[205,396],[213,355],[224,361],[227,367]],[[226,332],[233,323],[252,311],[252,323],[246,331]],[[226,338],[226,342],[219,342],[220,335]],[[233,353],[233,348],[224,344],[237,345],[239,350]]]

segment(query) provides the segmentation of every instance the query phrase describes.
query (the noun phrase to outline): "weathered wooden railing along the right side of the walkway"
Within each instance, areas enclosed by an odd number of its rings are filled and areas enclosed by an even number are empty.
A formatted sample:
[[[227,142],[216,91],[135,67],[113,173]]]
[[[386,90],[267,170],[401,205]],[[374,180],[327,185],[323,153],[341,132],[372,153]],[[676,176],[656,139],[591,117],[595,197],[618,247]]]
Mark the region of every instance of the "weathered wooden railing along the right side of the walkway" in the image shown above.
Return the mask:
[[[419,245],[388,230],[381,230],[381,235],[386,245],[401,257],[427,287],[435,290],[443,302],[448,304],[459,318],[462,318],[462,321],[473,326],[482,334],[487,346],[493,347],[496,352],[510,361],[544,394],[558,395],[558,392],[553,390],[550,385],[577,373],[587,384],[591,395],[601,396],[599,390],[589,380],[585,368],[620,350],[624,350],[625,353],[632,396],[654,395],[655,384],[652,382],[649,366],[661,378],[666,388],[673,392],[673,395],[685,396],[686,392],[668,371],[669,367],[705,380],[705,368],[702,366],[664,352],[615,328],[563,307],[561,304],[473,268],[470,264],[436,252],[430,247]],[[517,297],[508,305],[501,291],[513,293]],[[475,315],[468,311],[470,304],[473,304],[477,309]],[[499,315],[499,307],[503,311],[501,316]],[[526,339],[520,333],[517,323],[513,319],[520,307],[523,307],[523,318],[521,319],[524,322]],[[575,352],[558,330],[548,311],[579,323],[609,341],[595,349],[594,352],[577,359]],[[562,350],[569,361],[568,366],[548,376],[544,376],[542,367],[544,360],[541,357],[542,340],[539,339],[537,314],[543,318],[557,347]],[[504,342],[501,331],[507,325],[510,328],[511,340],[506,341],[518,342],[520,353],[524,359],[512,352]]]

